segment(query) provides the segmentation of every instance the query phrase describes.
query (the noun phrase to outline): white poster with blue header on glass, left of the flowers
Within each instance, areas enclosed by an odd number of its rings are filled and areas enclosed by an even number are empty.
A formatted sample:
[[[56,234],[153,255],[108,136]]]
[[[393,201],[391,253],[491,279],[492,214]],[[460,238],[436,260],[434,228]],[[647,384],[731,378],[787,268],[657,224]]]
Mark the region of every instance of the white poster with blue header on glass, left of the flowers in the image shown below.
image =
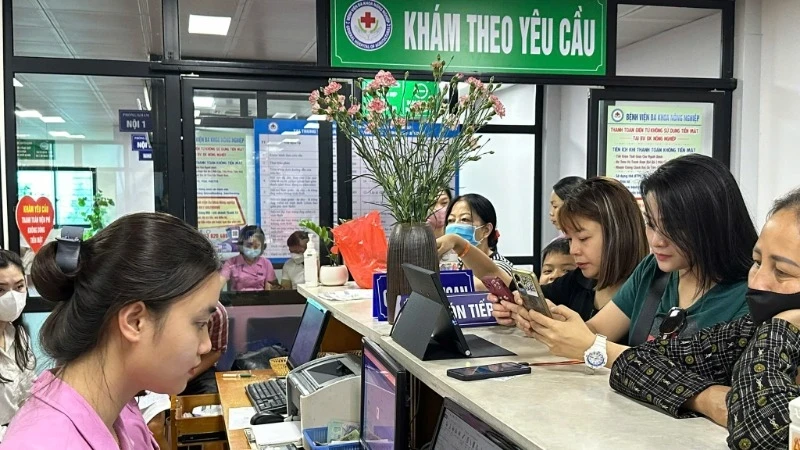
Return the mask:
[[[309,125],[312,125],[309,127]],[[304,120],[255,120],[258,218],[266,256],[289,257],[286,240],[309,219],[319,223],[319,128]]]

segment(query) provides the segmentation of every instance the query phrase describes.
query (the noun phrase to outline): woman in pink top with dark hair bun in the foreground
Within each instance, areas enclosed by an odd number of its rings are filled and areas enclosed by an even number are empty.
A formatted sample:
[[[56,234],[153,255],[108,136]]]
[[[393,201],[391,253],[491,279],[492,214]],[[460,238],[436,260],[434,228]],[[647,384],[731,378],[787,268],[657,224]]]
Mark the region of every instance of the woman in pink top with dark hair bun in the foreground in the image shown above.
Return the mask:
[[[56,304],[41,330],[56,367],[36,381],[0,449],[157,449],[134,396],[178,394],[211,349],[218,267],[202,234],[160,213],[42,247],[31,276]]]

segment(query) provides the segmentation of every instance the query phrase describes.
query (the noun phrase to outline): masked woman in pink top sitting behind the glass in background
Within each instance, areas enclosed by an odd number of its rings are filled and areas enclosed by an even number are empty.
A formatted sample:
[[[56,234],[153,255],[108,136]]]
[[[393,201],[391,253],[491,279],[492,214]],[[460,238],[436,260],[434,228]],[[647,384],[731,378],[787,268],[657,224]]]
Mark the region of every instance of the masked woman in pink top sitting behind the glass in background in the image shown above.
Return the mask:
[[[267,258],[264,231],[256,225],[248,225],[239,232],[239,256],[225,261],[219,274],[229,282],[231,291],[268,291],[278,284],[275,269]]]

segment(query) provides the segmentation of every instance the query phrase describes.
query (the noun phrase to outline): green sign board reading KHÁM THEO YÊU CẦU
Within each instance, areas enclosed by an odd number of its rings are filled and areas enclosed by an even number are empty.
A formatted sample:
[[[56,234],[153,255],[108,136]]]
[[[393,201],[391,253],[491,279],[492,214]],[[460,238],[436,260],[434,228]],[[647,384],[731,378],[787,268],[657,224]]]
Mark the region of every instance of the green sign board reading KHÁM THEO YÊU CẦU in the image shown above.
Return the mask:
[[[605,75],[606,0],[333,0],[331,65]],[[450,62],[450,58],[452,62]]]

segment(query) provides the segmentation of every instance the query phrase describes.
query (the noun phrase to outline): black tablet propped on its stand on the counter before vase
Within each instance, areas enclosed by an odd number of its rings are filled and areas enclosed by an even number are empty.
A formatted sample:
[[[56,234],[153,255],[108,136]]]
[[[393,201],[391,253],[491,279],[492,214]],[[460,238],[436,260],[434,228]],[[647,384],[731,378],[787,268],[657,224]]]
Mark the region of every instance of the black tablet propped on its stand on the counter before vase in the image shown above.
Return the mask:
[[[392,328],[392,339],[422,361],[516,355],[471,334],[464,335],[468,348],[461,349],[456,334],[458,324],[451,322],[444,308],[426,297],[409,298]]]

